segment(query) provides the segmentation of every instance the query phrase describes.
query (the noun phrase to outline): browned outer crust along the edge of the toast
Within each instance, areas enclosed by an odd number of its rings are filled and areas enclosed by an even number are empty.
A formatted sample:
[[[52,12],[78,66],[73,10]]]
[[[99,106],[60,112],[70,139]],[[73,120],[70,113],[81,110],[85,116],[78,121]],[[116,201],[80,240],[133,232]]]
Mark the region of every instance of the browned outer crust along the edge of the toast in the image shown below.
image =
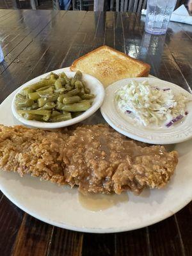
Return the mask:
[[[145,77],[145,76],[148,76],[149,74],[149,70],[150,70],[150,65],[148,65],[147,63],[143,62],[143,61],[140,61],[140,60],[136,60],[130,56],[128,56],[127,54],[125,54],[124,52],[120,52],[120,51],[117,51],[111,47],[109,47],[108,45],[103,45],[103,46],[100,46],[99,48],[91,51],[91,52],[88,52],[87,54],[84,54],[83,56],[79,57],[77,60],[75,60],[71,67],[70,67],[70,70],[72,71],[75,71],[76,70],[76,65],[77,65],[77,62],[79,60],[83,60],[84,58],[86,58],[87,56],[90,56],[90,54],[93,54],[94,52],[97,52],[97,51],[100,51],[100,49],[108,49],[109,51],[114,51],[114,52],[117,52],[118,54],[121,54],[122,56],[125,56],[126,58],[128,58],[129,60],[133,60],[133,61],[136,61],[137,63],[141,63],[141,65],[143,65],[146,69],[143,70],[143,72],[141,72],[138,77]]]

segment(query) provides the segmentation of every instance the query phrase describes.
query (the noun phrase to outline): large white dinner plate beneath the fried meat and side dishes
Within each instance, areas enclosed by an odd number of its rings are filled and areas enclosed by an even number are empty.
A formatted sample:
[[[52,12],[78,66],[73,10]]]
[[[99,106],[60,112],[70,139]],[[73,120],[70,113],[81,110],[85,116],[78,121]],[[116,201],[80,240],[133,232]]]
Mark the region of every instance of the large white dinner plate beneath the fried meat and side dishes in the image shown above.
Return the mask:
[[[0,106],[0,124],[20,124],[11,114],[13,92]],[[7,115],[10,113],[10,115]],[[86,119],[87,124],[100,122],[99,116]],[[81,232],[110,233],[146,227],[168,218],[192,198],[192,140],[172,145],[179,152],[175,175],[164,189],[146,189],[140,196],[128,192],[115,205],[102,211],[90,211],[78,200],[77,189],[0,170],[0,189],[13,204],[39,220]],[[106,197],[110,201],[111,196]],[[118,198],[118,196],[116,196]]]

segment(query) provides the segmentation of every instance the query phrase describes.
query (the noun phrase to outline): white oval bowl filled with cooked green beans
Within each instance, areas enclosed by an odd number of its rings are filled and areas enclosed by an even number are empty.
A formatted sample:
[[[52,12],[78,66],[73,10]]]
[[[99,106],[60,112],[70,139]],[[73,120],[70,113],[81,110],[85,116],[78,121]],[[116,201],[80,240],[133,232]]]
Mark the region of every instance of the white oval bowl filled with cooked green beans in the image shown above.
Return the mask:
[[[54,70],[20,86],[12,113],[22,124],[54,129],[77,124],[100,108],[104,88],[95,77]]]

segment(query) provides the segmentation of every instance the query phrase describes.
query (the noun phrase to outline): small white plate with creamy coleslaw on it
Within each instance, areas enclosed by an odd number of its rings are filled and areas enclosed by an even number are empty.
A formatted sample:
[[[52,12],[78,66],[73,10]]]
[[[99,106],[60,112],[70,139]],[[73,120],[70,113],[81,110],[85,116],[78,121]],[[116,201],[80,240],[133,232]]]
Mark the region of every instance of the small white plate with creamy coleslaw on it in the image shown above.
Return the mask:
[[[192,95],[151,77],[128,78],[106,88],[102,116],[116,131],[154,144],[192,138]]]

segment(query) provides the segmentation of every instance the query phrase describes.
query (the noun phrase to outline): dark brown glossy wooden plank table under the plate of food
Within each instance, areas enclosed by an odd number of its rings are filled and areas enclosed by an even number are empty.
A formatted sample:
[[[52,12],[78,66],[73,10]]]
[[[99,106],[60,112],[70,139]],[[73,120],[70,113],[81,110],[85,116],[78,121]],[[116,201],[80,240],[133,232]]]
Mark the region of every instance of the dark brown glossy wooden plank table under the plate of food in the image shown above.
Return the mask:
[[[144,33],[141,19],[134,13],[0,10],[5,55],[0,65],[0,102],[29,79],[67,67],[103,44],[147,61],[152,75],[191,92],[192,26],[170,22],[166,36],[153,36]],[[0,255],[192,255],[191,216],[189,204],[140,230],[83,234],[36,220],[0,192]]]

